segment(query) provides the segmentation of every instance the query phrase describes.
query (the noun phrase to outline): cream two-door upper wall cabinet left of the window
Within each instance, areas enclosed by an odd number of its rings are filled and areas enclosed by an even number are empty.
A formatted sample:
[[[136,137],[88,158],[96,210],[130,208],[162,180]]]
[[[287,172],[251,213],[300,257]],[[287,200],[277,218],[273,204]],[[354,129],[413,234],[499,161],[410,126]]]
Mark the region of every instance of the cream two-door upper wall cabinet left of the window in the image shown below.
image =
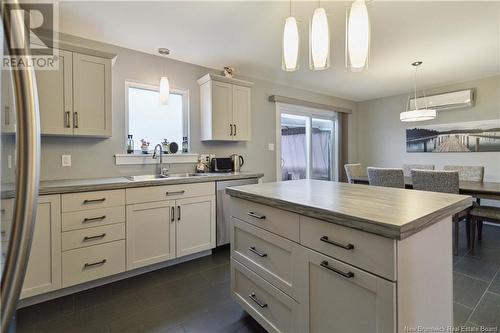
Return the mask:
[[[58,70],[36,72],[42,134],[111,137],[111,59],[59,57]]]

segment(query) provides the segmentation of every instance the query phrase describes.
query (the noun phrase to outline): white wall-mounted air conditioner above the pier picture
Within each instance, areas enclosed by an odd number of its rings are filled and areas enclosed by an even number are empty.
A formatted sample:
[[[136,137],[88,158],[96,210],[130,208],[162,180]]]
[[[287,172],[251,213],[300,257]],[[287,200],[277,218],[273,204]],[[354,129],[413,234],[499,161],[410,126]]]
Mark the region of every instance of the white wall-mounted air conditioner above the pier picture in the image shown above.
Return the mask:
[[[464,89],[447,92],[443,94],[417,97],[417,106],[419,109],[427,106],[428,109],[449,110],[456,108],[465,108],[474,106],[476,98],[476,89]],[[415,109],[415,98],[410,98],[410,108]]]

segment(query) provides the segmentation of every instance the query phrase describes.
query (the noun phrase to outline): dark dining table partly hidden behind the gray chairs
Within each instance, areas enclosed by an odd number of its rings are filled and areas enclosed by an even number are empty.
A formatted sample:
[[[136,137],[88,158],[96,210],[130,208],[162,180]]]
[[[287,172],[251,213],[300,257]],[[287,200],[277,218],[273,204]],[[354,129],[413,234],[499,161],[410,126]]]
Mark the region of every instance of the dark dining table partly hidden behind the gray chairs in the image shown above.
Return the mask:
[[[354,184],[369,184],[368,176],[351,178]],[[405,177],[405,187],[413,188],[411,177]],[[467,194],[478,199],[500,200],[500,182],[473,182],[461,180],[460,194]]]

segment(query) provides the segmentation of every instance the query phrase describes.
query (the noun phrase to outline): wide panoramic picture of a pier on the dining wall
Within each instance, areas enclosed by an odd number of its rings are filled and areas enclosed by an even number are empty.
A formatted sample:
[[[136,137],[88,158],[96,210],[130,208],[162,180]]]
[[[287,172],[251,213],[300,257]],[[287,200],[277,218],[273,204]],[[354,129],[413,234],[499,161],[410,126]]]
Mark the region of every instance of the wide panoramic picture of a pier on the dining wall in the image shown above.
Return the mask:
[[[499,152],[500,119],[406,129],[408,153]]]

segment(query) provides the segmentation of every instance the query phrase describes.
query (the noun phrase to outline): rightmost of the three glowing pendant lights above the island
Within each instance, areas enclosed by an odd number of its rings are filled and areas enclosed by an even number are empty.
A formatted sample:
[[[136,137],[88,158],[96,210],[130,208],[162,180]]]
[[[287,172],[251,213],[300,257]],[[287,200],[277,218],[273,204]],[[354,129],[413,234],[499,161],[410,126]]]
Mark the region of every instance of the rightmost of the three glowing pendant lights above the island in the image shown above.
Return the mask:
[[[346,68],[361,72],[368,67],[370,54],[370,18],[365,0],[356,0],[346,12]]]

